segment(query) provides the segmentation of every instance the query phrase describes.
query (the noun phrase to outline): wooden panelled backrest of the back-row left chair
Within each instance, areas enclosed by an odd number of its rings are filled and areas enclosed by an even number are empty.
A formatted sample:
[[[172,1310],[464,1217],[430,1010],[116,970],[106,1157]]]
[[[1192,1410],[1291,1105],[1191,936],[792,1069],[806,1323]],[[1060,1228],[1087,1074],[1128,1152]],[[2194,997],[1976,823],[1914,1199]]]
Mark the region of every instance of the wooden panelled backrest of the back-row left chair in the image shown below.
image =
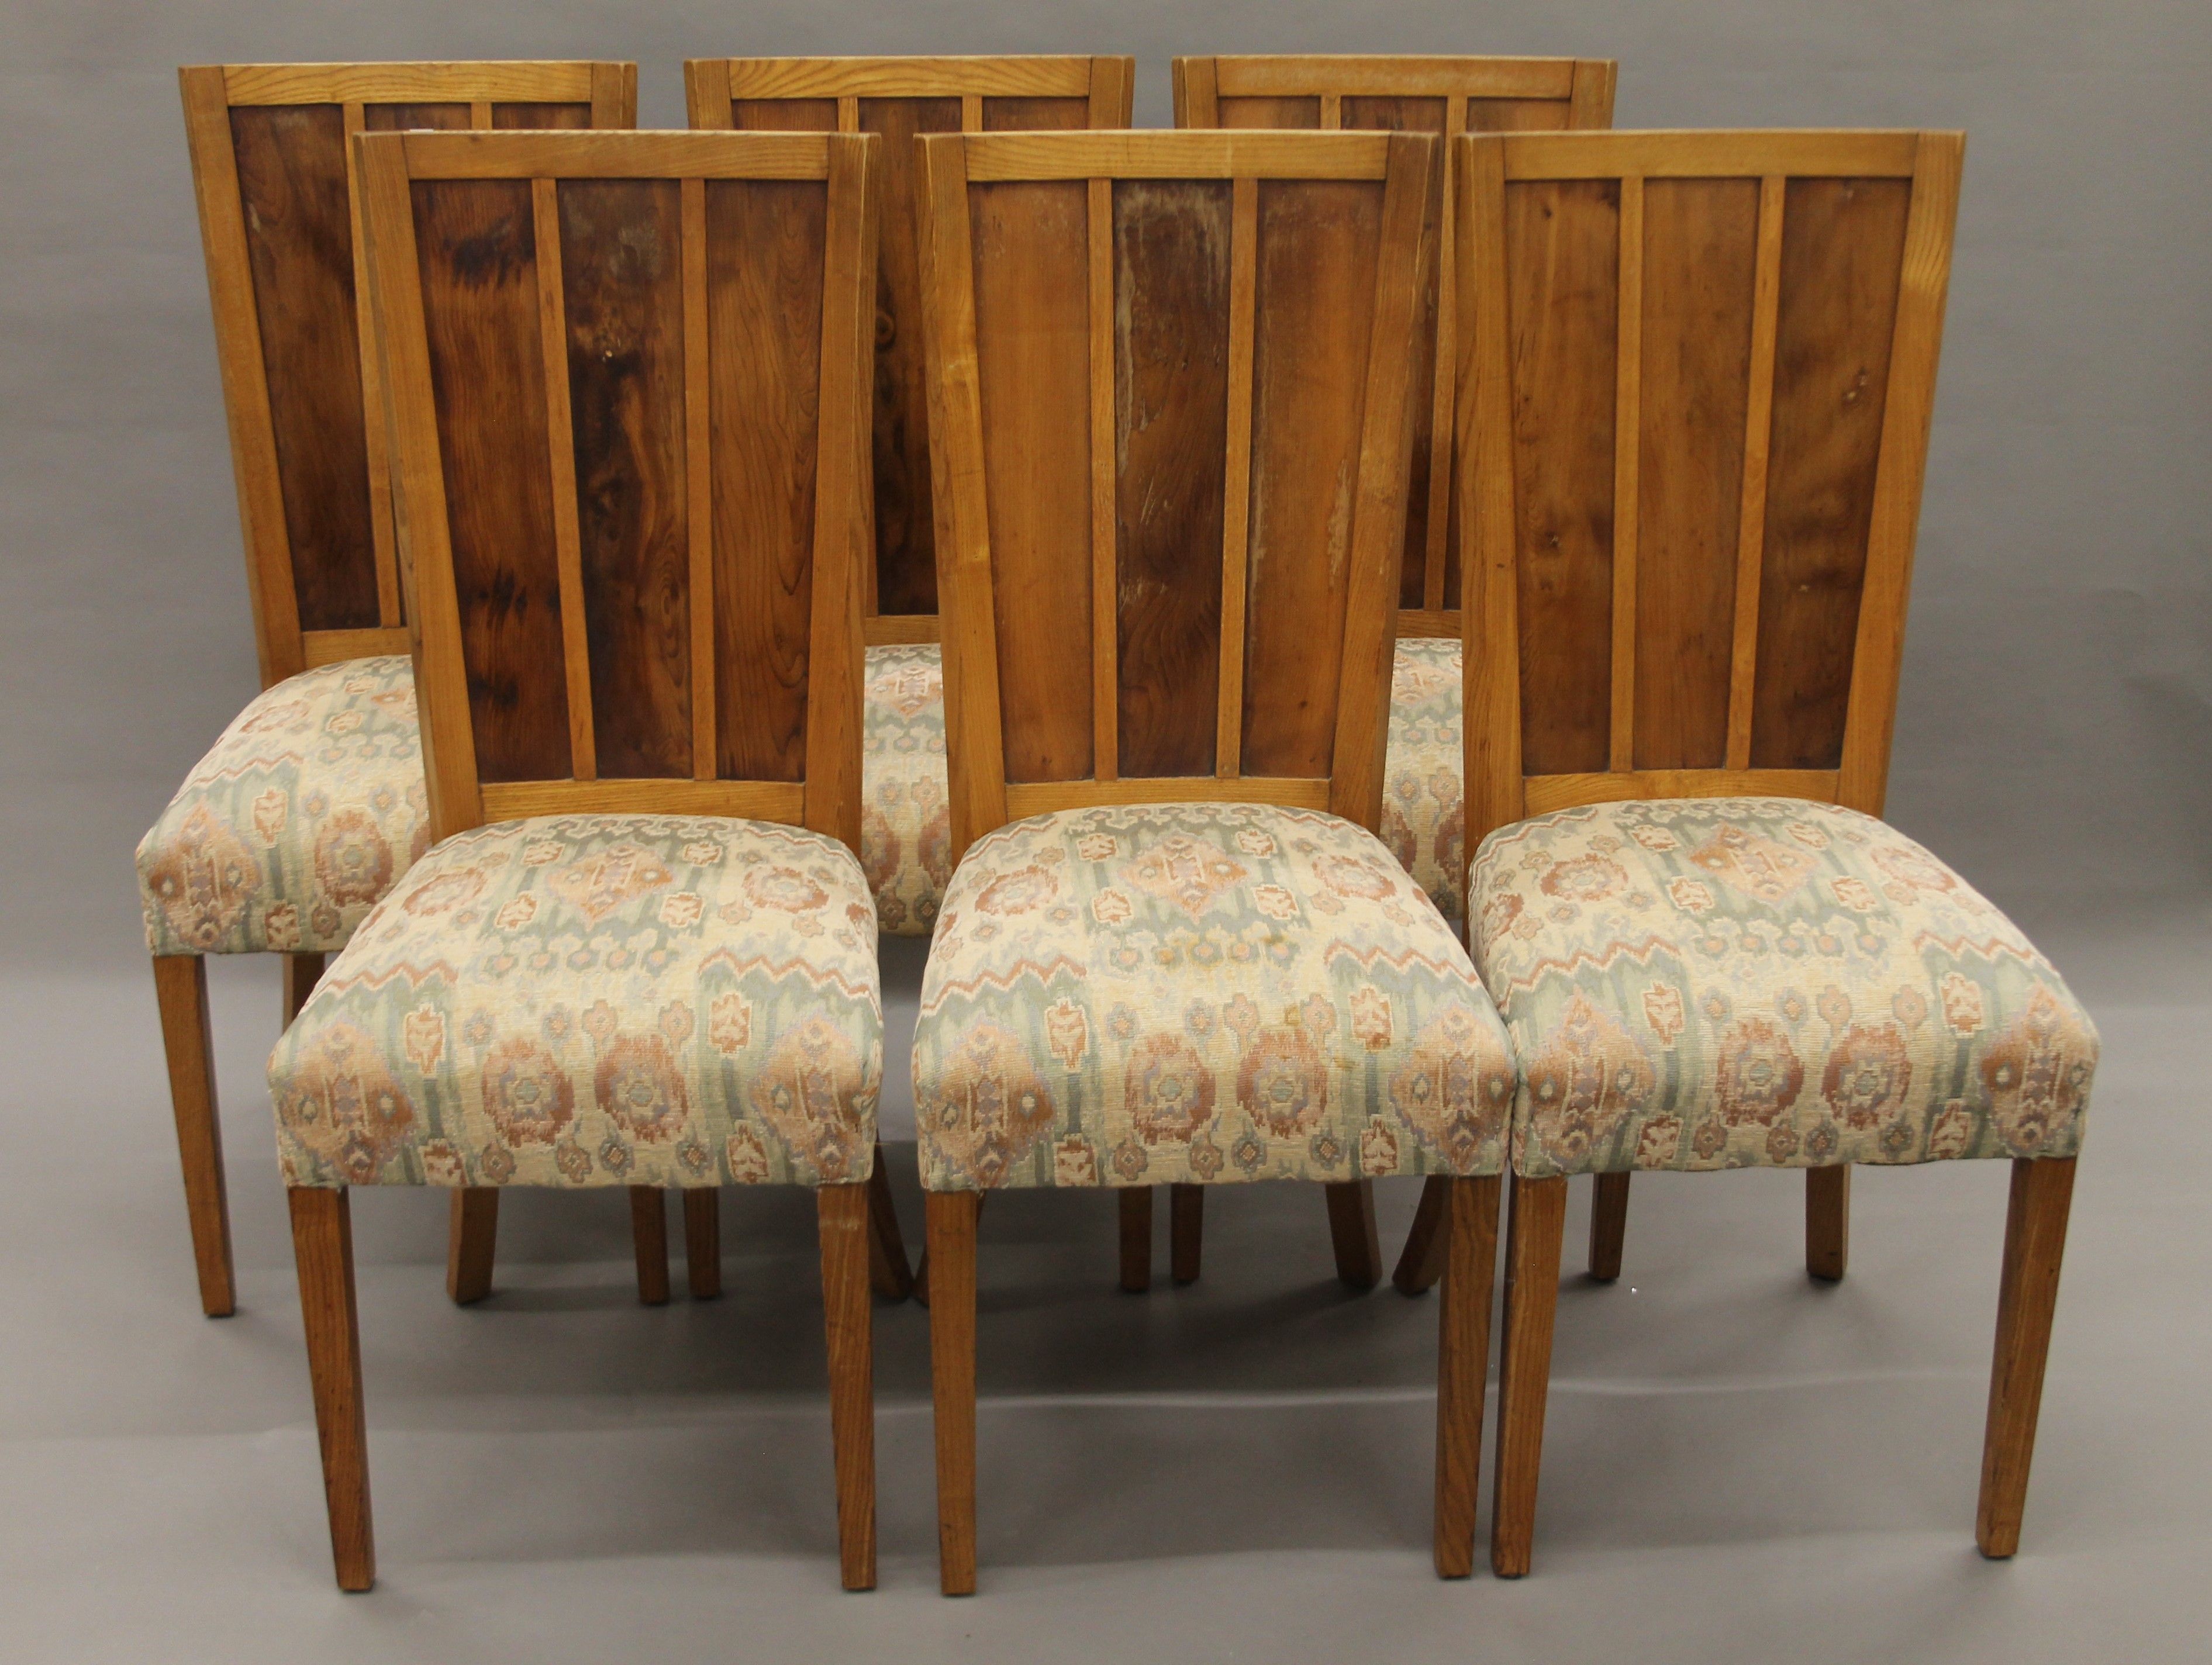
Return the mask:
[[[637,66],[206,64],[177,77],[261,685],[407,652],[352,135],[626,128]]]

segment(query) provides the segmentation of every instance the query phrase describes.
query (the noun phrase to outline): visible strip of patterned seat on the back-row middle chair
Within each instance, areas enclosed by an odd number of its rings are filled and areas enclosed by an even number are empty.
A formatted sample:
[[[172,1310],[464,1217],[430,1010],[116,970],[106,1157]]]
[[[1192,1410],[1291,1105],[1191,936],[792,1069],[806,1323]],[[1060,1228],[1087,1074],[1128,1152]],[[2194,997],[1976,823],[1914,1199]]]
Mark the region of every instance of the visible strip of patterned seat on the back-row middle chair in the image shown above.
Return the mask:
[[[945,670],[936,643],[867,650],[860,865],[876,924],[927,938],[951,882],[945,809]]]

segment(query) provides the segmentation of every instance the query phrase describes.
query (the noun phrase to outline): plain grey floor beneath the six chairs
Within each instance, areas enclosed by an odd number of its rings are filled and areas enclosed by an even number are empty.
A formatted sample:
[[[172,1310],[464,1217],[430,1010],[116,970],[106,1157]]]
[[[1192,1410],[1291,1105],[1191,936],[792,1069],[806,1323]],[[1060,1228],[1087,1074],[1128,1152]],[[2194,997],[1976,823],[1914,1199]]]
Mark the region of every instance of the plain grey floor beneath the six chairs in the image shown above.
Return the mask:
[[[635,1305],[617,1194],[513,1196],[473,1311],[442,1296],[442,1198],[361,1196],[383,1579],[336,1594],[259,1092],[274,966],[215,975],[228,1322],[192,1300],[144,971],[11,984],[0,1656],[2203,1658],[2212,931],[2201,904],[2031,924],[2106,1066],[2017,1561],[1971,1546],[1997,1163],[1863,1172],[1834,1289],[1801,1274],[1792,1176],[1637,1181],[1621,1282],[1566,1280],[1520,1583],[1429,1572],[1433,1302],[1345,1296],[1316,1194],[1228,1187],[1206,1278],[1144,1298],[1110,1289],[1108,1198],[993,1203],[982,1594],[958,1603],[911,1305],[876,1329],[883,1588],[836,1590],[796,1194],[728,1194],[728,1294],[688,1305],[679,1271],[661,1311]],[[916,964],[894,953],[909,1010]],[[911,1234],[911,1148],[891,1163]],[[1383,1201],[1394,1252],[1413,1194]]]

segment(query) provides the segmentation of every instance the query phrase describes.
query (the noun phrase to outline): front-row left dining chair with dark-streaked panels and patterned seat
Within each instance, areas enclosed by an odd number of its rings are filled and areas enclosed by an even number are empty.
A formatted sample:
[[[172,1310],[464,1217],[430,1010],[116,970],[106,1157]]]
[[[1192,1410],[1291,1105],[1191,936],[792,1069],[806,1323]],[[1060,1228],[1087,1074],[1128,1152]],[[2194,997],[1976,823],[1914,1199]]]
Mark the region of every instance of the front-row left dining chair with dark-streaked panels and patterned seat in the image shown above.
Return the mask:
[[[874,1583],[849,135],[356,144],[436,842],[270,1057],[338,1583],[374,1581],[349,1192],[807,1185]]]

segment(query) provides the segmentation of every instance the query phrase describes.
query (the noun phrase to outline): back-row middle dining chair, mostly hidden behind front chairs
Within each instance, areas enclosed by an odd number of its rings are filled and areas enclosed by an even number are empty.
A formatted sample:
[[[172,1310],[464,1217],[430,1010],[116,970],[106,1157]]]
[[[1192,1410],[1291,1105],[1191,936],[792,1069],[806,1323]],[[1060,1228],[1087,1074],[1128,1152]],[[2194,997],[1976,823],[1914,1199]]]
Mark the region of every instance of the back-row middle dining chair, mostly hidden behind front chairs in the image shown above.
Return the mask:
[[[927,938],[951,878],[929,509],[914,135],[1126,128],[1133,57],[695,57],[695,128],[883,135],[876,270],[876,557],[867,568],[860,862],[876,924]]]

